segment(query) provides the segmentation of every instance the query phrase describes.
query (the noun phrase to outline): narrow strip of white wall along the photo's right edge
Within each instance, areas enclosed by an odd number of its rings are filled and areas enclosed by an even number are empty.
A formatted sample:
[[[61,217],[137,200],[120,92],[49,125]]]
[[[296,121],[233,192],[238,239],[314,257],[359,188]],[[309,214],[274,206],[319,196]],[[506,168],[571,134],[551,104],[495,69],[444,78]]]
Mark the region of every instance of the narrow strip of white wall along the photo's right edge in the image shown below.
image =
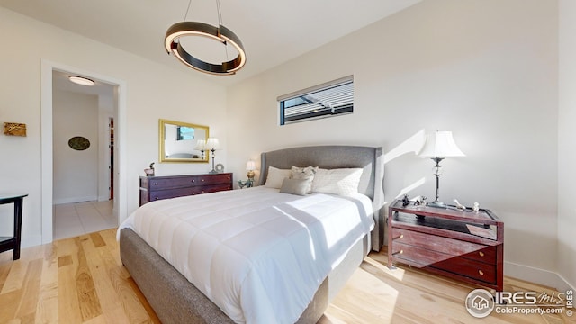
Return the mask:
[[[576,286],[576,2],[561,0],[558,116],[558,270]]]

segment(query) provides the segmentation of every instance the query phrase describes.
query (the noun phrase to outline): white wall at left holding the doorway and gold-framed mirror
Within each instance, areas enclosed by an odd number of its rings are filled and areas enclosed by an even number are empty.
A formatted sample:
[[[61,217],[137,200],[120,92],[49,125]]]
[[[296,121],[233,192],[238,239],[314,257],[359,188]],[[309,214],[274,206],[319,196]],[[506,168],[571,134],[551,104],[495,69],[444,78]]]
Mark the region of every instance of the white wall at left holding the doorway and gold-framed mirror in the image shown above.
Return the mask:
[[[23,246],[40,244],[40,60],[94,71],[126,83],[127,210],[139,204],[139,175],[157,161],[158,119],[210,126],[210,133],[227,147],[225,89],[190,69],[172,69],[120,49],[63,31],[0,8],[0,40],[11,44],[0,52],[0,122],[27,124],[28,136],[0,135],[2,191],[29,193],[24,199]],[[161,42],[158,50],[162,50]],[[50,76],[51,77],[51,76]],[[120,131],[120,130],[117,130]],[[226,164],[226,152],[217,157]],[[157,175],[202,173],[208,164],[157,164]],[[10,232],[9,213],[0,209],[0,235]],[[120,219],[127,215],[119,215]]]

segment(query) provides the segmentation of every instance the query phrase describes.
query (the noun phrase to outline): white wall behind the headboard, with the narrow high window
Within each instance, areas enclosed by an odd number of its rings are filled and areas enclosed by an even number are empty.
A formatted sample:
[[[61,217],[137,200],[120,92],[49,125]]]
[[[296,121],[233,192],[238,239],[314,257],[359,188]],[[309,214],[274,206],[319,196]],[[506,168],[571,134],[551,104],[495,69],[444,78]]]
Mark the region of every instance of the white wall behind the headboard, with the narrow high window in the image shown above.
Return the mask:
[[[413,151],[422,130],[452,130],[466,157],[443,161],[441,199],[504,220],[507,275],[556,284],[557,17],[552,1],[422,2],[232,86],[229,164],[245,178],[269,149],[383,146],[386,200],[422,179],[409,194],[434,197]],[[278,126],[278,95],[347,75],[354,114]]]

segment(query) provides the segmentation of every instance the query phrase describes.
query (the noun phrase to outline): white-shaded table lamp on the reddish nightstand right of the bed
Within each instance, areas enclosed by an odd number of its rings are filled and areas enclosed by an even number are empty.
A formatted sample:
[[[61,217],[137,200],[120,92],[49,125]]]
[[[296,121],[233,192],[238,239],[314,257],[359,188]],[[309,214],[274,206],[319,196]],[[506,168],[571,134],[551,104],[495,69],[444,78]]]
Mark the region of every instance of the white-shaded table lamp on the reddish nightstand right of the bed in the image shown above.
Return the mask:
[[[434,175],[436,175],[436,200],[434,202],[428,202],[430,207],[446,208],[444,202],[440,202],[439,198],[439,184],[440,175],[442,174],[442,167],[440,166],[440,161],[445,157],[465,157],[464,153],[456,146],[454,138],[452,137],[452,131],[439,131],[428,134],[426,143],[418,154],[419,157],[429,157],[434,162]]]

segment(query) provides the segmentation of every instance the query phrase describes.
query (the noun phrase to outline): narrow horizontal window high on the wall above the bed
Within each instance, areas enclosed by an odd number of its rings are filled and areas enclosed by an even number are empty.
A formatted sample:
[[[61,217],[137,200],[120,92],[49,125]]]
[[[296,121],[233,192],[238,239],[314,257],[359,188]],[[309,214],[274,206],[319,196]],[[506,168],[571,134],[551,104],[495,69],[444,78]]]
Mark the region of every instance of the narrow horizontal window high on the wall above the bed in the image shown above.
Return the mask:
[[[280,124],[354,112],[354,77],[347,76],[278,97]]]

